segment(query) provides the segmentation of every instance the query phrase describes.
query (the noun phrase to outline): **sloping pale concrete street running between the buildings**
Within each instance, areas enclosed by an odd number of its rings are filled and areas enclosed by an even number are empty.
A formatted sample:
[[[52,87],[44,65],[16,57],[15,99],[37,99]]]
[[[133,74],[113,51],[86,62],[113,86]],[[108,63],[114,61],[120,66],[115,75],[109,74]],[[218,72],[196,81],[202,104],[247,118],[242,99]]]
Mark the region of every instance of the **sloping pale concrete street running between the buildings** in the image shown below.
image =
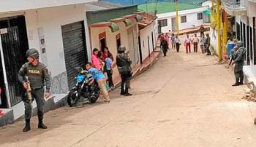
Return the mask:
[[[233,71],[214,56],[170,49],[132,81],[134,94],[110,93],[82,108],[59,108],[45,114],[48,130],[23,133],[23,122],[0,128],[0,146],[18,147],[252,147],[255,104],[231,87]],[[10,138],[12,136],[12,138]]]

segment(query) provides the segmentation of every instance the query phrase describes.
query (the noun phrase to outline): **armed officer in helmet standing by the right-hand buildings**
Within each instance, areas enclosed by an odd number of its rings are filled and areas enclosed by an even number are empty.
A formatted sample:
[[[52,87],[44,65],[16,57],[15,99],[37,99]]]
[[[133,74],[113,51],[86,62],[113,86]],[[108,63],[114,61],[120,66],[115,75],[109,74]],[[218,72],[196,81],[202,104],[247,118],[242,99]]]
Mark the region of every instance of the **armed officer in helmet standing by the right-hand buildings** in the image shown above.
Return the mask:
[[[233,87],[243,84],[244,81],[243,66],[246,49],[243,47],[243,41],[237,41],[236,46],[238,49],[233,55],[234,61],[232,63],[232,65],[235,64],[234,73],[236,76],[236,83],[232,85]]]

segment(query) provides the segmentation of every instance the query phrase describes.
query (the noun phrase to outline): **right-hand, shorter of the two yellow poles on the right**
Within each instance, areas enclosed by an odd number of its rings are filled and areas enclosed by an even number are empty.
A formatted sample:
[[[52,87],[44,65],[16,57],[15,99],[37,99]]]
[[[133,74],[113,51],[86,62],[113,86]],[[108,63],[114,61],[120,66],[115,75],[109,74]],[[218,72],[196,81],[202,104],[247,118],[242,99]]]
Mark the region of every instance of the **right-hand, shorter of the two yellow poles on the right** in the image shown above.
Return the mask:
[[[225,10],[222,11],[222,18],[223,18],[223,33],[222,33],[222,50],[227,55],[227,12]]]

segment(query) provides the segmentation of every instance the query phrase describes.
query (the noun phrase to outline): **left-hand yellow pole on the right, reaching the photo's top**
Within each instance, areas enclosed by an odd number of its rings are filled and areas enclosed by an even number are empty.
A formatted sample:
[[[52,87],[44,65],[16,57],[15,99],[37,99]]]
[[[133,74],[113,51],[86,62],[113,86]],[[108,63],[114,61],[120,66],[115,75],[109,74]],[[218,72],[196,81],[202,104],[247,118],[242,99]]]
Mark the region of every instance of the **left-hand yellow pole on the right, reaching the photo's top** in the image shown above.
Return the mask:
[[[222,48],[221,48],[221,39],[220,39],[220,11],[219,11],[219,5],[220,0],[217,0],[217,35],[218,35],[218,55],[219,55],[219,61],[222,60]]]

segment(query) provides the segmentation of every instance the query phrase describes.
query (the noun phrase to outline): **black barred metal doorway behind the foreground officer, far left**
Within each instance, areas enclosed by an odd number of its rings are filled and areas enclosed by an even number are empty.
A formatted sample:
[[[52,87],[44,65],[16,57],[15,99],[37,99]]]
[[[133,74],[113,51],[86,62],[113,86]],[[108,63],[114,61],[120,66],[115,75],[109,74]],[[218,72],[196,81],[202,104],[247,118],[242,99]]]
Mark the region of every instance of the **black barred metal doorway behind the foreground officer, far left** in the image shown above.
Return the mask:
[[[1,106],[15,106],[20,103],[22,95],[25,93],[22,84],[18,82],[17,73],[23,63],[26,63],[26,50],[29,49],[29,43],[26,33],[26,20],[23,15],[15,17],[6,17],[0,19],[0,29],[6,29],[6,33],[1,34],[1,44],[3,48],[4,63],[0,65],[0,88],[1,88]],[[0,60],[2,60],[0,57]],[[5,65],[5,71],[2,65]],[[6,87],[4,84],[4,74],[7,76]],[[7,95],[7,90],[9,95]],[[7,98],[10,97],[10,105]]]

